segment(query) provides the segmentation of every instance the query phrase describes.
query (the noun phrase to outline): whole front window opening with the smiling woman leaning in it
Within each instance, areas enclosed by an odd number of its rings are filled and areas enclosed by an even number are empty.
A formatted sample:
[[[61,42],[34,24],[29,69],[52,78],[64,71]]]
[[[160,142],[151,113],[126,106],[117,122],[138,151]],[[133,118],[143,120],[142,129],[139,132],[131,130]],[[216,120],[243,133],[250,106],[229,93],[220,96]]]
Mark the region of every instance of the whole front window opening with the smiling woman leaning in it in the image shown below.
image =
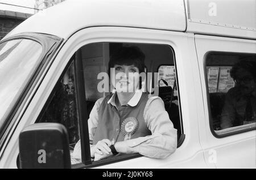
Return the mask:
[[[128,156],[166,158],[176,150],[177,130],[181,132],[180,116],[175,117],[179,108],[170,106],[170,98],[166,101],[171,88],[164,96],[156,93],[162,92],[156,91],[159,78],[164,79],[163,72],[158,76],[158,67],[168,63],[174,67],[174,54],[167,45],[86,44],[69,59],[36,122],[57,122],[67,128],[74,166],[83,163],[84,153],[90,164]],[[154,76],[141,77],[145,72]],[[164,73],[174,75],[170,68]],[[177,95],[173,99],[179,101]]]

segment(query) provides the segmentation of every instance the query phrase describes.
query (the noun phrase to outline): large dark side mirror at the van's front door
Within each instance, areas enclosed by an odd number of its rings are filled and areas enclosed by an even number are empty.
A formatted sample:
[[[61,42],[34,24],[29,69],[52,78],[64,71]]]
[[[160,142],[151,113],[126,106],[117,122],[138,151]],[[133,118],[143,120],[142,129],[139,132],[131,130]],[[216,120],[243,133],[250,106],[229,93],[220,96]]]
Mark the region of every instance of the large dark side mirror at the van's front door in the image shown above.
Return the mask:
[[[19,135],[20,168],[71,168],[67,129],[59,123],[35,123]]]

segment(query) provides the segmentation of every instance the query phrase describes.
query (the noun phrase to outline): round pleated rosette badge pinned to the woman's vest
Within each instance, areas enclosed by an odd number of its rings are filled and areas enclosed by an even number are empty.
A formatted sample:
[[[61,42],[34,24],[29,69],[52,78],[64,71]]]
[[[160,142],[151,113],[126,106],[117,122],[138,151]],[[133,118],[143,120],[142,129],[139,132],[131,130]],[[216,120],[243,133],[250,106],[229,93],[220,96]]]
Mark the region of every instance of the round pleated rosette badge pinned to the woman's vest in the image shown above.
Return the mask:
[[[125,136],[124,140],[131,139],[131,136],[138,128],[138,121],[133,117],[126,118],[121,125],[121,132]]]

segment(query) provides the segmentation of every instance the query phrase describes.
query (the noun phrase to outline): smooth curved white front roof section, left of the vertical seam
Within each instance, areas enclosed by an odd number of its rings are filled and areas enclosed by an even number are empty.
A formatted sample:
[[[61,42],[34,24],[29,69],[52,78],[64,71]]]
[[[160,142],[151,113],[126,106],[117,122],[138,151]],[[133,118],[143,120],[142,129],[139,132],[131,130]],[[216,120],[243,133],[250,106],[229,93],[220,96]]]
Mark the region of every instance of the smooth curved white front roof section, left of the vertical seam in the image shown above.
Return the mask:
[[[185,5],[183,0],[68,0],[31,16],[7,36],[40,32],[67,39],[82,28],[108,25],[185,31]]]

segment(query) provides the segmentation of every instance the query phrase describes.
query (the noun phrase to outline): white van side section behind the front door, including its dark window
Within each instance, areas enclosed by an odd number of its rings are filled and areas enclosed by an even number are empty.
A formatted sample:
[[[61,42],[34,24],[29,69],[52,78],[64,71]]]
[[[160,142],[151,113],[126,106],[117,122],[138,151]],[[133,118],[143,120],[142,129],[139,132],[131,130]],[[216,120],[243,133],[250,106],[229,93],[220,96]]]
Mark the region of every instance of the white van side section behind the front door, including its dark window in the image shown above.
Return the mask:
[[[236,79],[234,74],[240,76],[241,72],[234,70],[234,67],[240,68],[241,63],[249,64],[246,67],[255,67],[256,41],[195,35],[195,43],[205,116],[199,119],[200,139],[206,159],[217,168],[255,168],[255,97],[251,97],[254,98],[251,101],[254,104],[251,108],[254,117],[247,121],[243,119],[247,90],[238,84],[238,80],[243,84],[254,84],[255,74],[252,70],[246,70],[250,71],[254,80],[252,77]],[[243,72],[247,69],[245,66]],[[236,89],[239,89],[239,93],[234,95]],[[230,120],[233,116],[237,118],[237,114],[241,123],[235,123],[237,119]],[[225,127],[225,123],[230,125]]]

